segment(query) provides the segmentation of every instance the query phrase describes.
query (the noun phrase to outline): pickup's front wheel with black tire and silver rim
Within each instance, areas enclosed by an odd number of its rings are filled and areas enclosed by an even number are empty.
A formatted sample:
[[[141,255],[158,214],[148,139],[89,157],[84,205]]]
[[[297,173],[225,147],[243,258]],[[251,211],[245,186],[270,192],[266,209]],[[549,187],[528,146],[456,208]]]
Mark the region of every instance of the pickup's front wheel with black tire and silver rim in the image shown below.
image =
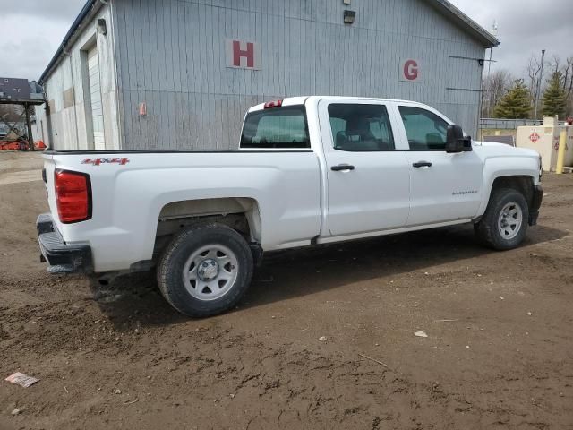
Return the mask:
[[[526,237],[529,206],[522,193],[512,188],[493,191],[483,219],[475,225],[475,235],[499,251],[521,245]]]

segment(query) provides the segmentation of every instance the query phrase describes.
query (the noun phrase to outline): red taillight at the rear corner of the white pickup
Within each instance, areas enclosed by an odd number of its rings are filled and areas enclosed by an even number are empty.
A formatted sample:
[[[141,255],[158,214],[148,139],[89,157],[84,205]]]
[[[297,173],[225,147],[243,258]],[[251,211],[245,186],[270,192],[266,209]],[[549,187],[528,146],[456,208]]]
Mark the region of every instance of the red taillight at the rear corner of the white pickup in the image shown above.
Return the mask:
[[[85,221],[91,218],[90,176],[79,172],[56,170],[57,214],[64,224]]]

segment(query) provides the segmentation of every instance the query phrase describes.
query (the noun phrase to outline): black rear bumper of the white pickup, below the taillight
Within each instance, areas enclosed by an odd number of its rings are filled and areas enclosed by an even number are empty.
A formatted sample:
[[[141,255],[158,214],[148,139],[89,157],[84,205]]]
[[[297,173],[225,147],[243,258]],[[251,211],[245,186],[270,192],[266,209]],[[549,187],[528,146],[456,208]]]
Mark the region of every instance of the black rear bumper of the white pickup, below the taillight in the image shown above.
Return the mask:
[[[52,273],[71,273],[93,271],[91,248],[89,245],[67,245],[54,226],[52,216],[44,213],[36,221],[40,260],[47,262],[47,271]]]

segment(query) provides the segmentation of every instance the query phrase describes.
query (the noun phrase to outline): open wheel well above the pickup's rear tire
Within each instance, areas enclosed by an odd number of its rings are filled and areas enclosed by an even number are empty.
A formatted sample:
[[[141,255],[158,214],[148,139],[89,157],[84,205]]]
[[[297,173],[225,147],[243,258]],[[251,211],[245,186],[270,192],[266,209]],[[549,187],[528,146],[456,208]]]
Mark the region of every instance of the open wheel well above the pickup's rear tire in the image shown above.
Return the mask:
[[[154,258],[172,237],[184,228],[204,221],[224,224],[244,236],[248,243],[260,242],[261,220],[257,202],[249,198],[201,199],[171,202],[158,217]]]

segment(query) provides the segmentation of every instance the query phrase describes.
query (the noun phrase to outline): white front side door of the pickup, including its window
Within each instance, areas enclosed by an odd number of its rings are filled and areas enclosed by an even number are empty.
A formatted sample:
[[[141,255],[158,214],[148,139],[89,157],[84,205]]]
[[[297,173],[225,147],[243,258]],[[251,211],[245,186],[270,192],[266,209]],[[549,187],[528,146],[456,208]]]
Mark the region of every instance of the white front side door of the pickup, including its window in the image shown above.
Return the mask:
[[[475,152],[449,154],[449,123],[429,109],[398,104],[410,170],[410,215],[414,227],[473,219],[482,202],[483,162]]]

